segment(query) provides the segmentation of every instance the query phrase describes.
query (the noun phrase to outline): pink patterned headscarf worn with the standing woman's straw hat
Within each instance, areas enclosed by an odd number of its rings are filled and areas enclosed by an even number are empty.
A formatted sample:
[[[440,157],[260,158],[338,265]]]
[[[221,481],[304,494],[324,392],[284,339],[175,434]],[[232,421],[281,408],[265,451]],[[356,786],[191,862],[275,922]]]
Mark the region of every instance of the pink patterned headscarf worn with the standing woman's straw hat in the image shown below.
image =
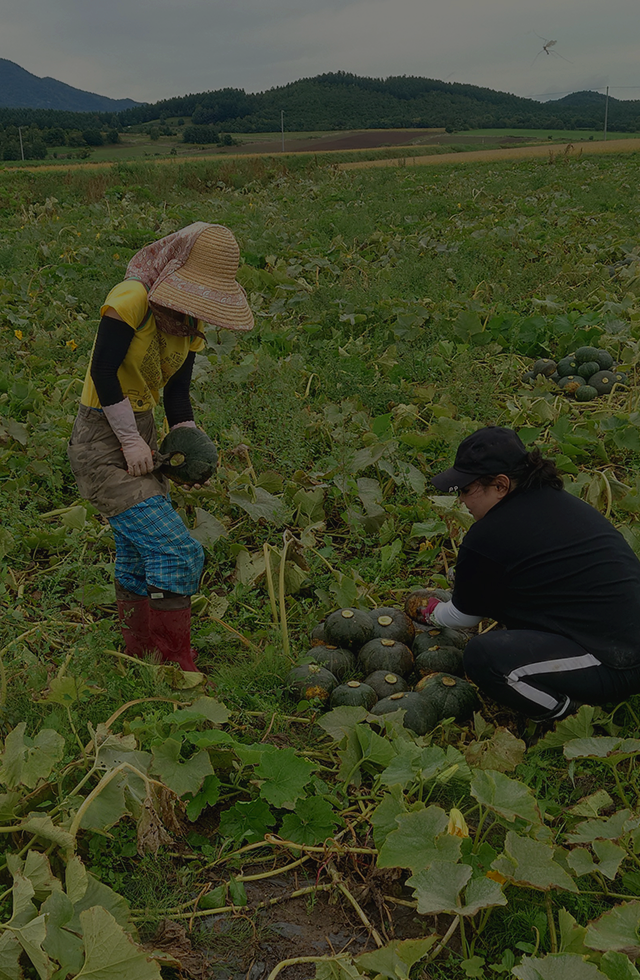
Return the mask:
[[[175,316],[167,313],[166,307],[153,303],[153,294],[167,276],[182,268],[189,257],[196,240],[209,224],[206,221],[194,221],[192,225],[175,231],[172,235],[145,245],[133,256],[125,279],[139,279],[146,286],[149,294],[149,306],[152,308],[158,330],[176,337],[186,337],[193,334],[194,328],[184,322],[184,314],[177,312]]]

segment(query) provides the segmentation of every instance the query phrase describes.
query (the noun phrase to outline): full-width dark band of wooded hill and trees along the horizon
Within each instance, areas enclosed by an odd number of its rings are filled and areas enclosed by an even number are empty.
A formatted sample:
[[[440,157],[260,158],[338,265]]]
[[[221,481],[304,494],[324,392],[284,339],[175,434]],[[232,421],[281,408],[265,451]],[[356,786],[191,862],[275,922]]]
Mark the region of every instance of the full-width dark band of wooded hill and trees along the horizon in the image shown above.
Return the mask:
[[[151,139],[177,136],[180,131],[186,143],[228,145],[233,143],[233,133],[280,129],[282,110],[287,130],[302,132],[431,127],[598,130],[604,122],[604,101],[597,92],[575,92],[540,103],[459,82],[331,72],[256,94],[223,88],[118,113],[0,109],[0,158],[20,159],[18,127],[25,158],[42,159],[48,147],[89,152],[90,147],[117,142],[127,127],[143,129]],[[169,121],[176,117],[177,128],[172,128]],[[609,129],[640,131],[640,101],[609,99]]]

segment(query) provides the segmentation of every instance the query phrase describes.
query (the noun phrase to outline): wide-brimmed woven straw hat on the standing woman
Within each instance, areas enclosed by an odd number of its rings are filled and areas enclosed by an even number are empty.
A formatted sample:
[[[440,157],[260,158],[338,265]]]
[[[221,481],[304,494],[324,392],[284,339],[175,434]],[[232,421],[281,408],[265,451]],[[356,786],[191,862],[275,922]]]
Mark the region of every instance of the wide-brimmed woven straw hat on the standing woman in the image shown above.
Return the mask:
[[[251,330],[247,294],[236,281],[240,249],[224,225],[207,225],[180,268],[149,291],[159,306],[186,313],[227,330]]]

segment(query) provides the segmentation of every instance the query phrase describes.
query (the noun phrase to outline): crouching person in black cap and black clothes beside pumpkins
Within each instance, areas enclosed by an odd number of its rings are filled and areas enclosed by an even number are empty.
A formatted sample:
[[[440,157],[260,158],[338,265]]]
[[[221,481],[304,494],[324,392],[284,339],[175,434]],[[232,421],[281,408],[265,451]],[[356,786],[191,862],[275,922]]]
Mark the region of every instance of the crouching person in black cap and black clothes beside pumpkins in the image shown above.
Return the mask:
[[[640,692],[640,561],[613,525],[563,489],[554,463],[511,429],[464,439],[434,476],[475,518],[451,600],[418,618],[506,627],[467,644],[467,675],[489,697],[539,721]]]

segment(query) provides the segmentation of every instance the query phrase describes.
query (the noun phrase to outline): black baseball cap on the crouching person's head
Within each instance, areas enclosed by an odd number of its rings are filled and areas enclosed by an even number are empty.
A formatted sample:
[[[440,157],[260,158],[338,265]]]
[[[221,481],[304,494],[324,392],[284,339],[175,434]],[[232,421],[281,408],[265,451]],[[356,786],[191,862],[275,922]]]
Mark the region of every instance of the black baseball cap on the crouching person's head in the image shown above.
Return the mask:
[[[437,473],[431,482],[436,489],[453,493],[468,487],[479,476],[508,475],[526,455],[525,445],[513,429],[489,425],[463,439],[451,469]]]

